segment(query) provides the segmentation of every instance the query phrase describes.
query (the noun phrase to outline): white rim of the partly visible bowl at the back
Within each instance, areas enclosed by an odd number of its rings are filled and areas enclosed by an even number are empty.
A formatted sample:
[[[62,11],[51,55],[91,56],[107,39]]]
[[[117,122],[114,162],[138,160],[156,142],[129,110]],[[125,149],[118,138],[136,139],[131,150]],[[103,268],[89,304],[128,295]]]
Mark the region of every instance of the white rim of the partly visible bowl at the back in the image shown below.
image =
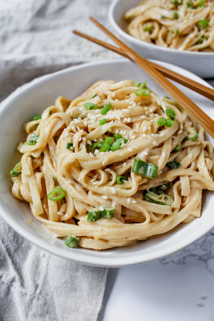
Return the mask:
[[[139,40],[137,38],[134,38],[127,32],[125,32],[116,22],[114,17],[115,8],[119,3],[122,3],[124,0],[113,0],[109,10],[108,10],[108,20],[112,27],[123,37],[126,38],[126,40],[133,42],[135,45],[141,46],[141,47],[148,47],[150,49],[165,51],[168,53],[177,53],[181,54],[183,56],[198,56],[198,57],[212,57],[214,56],[214,52],[201,52],[201,51],[188,51],[188,50],[178,50],[178,49],[172,49],[172,48],[165,48],[158,45],[150,44],[149,42]],[[131,3],[131,2],[130,2]]]

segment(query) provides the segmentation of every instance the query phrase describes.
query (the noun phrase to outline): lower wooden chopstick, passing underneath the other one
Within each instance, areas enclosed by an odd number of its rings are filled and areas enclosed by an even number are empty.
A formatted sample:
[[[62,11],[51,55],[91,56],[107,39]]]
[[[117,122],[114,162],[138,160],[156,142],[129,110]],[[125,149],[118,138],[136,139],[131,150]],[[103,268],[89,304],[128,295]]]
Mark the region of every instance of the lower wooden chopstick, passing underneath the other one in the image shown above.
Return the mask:
[[[89,35],[87,35],[86,33],[82,33],[80,31],[77,30],[73,30],[73,33],[75,35],[78,35],[80,37],[83,37],[85,39],[88,39],[94,43],[96,43],[97,45],[100,45],[104,48],[107,48],[109,50],[112,50],[114,52],[116,52],[117,54],[124,56],[128,59],[131,59],[129,56],[127,56],[125,54],[125,52],[123,50],[121,50],[120,48],[117,48],[115,46],[110,45],[107,42],[101,41],[97,38],[91,37]],[[132,60],[132,59],[131,59]],[[147,63],[149,63],[152,67],[158,69],[164,76],[168,77],[169,79],[172,79],[182,85],[184,85],[185,87],[192,89],[193,91],[198,92],[199,94],[209,98],[210,100],[214,101],[214,89],[209,88],[207,86],[201,85],[199,82],[195,82],[194,80],[184,77],[181,74],[177,74],[174,71],[167,69],[163,66],[157,65],[151,61],[147,61]]]

